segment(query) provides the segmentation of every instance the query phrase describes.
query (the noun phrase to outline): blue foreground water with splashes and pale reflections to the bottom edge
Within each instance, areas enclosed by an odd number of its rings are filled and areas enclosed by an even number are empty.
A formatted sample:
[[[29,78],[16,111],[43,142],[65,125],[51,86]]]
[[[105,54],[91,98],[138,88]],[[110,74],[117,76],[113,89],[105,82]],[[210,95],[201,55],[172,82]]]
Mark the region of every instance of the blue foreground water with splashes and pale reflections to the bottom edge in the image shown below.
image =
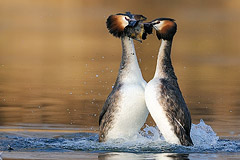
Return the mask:
[[[98,133],[94,132],[5,132],[0,135],[0,150],[4,151],[3,156],[6,157],[11,157],[9,152],[12,151],[25,158],[33,154],[32,152],[44,152],[44,154],[48,152],[53,158],[59,155],[59,153],[55,155],[55,152],[74,152],[73,154],[83,153],[83,155],[95,153],[98,154],[98,158],[104,159],[124,159],[124,157],[137,159],[148,156],[156,159],[164,157],[174,159],[175,156],[187,158],[196,153],[231,155],[240,152],[239,139],[220,139],[203,120],[197,125],[193,124],[191,138],[194,146],[169,144],[159,130],[152,126],[146,126],[143,131],[131,138],[116,139],[105,143],[99,143]],[[27,156],[21,155],[24,153]],[[70,158],[73,157],[70,156]]]

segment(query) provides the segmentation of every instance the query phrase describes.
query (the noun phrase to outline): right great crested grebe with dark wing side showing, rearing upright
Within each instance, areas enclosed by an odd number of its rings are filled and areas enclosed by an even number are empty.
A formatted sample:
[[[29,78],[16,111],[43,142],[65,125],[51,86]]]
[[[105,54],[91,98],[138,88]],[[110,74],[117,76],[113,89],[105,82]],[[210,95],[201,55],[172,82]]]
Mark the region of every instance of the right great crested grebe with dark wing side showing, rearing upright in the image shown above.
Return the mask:
[[[167,142],[191,146],[191,115],[178,86],[170,57],[177,24],[170,18],[158,18],[148,24],[156,30],[162,43],[154,78],[145,88],[147,108]]]

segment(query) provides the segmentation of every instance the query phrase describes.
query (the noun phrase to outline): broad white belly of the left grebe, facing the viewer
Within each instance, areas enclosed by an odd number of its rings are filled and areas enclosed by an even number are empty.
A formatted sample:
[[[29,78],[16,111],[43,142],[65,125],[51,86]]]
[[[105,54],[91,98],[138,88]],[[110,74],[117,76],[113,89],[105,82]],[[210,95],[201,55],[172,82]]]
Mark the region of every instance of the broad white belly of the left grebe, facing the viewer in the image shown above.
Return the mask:
[[[124,85],[121,89],[120,108],[113,127],[108,131],[108,139],[128,138],[136,135],[145,123],[148,110],[144,98],[145,86]]]

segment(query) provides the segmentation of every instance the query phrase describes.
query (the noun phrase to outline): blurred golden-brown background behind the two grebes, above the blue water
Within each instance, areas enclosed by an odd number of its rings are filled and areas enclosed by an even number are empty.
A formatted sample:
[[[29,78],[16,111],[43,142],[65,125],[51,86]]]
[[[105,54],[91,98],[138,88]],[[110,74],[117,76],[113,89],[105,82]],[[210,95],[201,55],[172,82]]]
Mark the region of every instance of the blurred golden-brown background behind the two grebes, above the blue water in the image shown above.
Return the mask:
[[[97,131],[122,52],[105,21],[126,11],[176,20],[172,60],[193,123],[240,136],[238,0],[1,0],[1,128]],[[146,81],[159,46],[155,35],[135,42]]]

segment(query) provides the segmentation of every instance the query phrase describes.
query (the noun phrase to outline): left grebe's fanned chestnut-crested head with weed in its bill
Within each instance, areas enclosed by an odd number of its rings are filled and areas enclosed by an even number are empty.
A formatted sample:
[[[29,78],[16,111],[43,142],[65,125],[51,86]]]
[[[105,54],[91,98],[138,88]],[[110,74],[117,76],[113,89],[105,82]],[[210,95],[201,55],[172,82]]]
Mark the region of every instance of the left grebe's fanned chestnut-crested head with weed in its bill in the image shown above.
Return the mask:
[[[144,33],[144,24],[142,21],[146,19],[143,15],[126,12],[125,14],[119,13],[109,16],[106,24],[109,32],[115,37],[128,36],[141,41]]]

